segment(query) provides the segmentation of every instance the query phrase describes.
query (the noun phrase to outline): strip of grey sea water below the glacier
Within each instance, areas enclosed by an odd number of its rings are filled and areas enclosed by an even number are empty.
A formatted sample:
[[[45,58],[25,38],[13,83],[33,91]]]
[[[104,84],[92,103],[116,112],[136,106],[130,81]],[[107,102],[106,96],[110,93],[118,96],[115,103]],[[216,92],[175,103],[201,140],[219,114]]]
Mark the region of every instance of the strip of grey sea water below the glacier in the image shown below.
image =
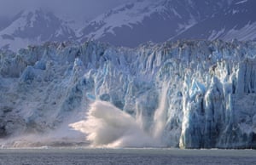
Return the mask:
[[[253,150],[2,149],[1,165],[39,164],[256,164]]]

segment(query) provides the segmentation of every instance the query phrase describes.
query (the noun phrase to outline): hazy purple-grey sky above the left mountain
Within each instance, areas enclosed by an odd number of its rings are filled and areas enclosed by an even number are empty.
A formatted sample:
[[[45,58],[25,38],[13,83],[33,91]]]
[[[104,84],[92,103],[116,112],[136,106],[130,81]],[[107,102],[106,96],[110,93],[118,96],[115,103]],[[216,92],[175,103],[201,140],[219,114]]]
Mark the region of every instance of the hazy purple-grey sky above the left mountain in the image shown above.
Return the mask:
[[[91,18],[128,0],[0,0],[0,16],[12,16],[21,9],[40,7],[68,17]]]

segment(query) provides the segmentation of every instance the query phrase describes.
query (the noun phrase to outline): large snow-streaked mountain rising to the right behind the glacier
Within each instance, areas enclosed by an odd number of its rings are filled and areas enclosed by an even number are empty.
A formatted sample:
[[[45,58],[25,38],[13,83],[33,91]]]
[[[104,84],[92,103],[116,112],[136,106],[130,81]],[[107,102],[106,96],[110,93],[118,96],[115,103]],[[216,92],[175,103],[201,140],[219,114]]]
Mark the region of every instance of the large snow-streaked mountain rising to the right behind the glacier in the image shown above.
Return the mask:
[[[83,38],[119,46],[168,39],[255,38],[253,0],[137,0],[92,20]],[[83,40],[84,41],[84,40]]]

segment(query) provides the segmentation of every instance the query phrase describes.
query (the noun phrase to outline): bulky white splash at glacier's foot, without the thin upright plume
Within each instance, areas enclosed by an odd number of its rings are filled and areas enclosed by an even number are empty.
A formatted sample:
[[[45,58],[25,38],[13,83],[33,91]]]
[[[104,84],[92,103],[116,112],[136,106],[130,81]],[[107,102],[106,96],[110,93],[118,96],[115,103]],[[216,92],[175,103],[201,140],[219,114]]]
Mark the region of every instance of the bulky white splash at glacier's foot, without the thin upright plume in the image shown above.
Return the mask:
[[[136,120],[105,101],[90,105],[87,119],[70,124],[87,134],[93,147],[153,147],[158,141],[146,134]]]

